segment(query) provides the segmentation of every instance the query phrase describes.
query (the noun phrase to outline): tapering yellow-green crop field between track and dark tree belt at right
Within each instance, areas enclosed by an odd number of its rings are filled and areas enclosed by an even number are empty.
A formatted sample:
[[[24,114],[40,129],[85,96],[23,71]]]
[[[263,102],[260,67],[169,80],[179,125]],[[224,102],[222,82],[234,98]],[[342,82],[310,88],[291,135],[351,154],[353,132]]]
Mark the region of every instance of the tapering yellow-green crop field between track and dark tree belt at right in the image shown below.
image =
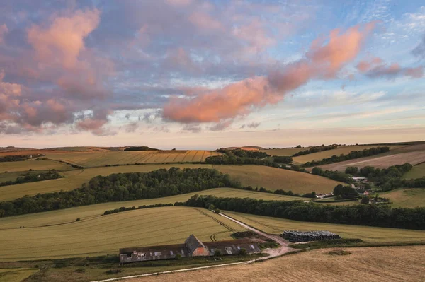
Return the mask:
[[[267,233],[280,234],[283,230],[328,230],[344,238],[359,238],[368,242],[425,242],[425,231],[399,228],[379,228],[361,225],[310,223],[284,218],[256,216],[225,211],[225,214]]]

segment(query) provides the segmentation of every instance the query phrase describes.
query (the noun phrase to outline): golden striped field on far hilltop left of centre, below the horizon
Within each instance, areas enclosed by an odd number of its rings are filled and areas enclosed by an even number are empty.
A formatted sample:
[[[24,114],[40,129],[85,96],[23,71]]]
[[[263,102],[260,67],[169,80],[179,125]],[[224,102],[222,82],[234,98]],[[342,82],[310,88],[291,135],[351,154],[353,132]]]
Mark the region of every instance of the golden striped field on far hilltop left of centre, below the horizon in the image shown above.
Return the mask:
[[[215,151],[123,151],[123,152],[77,152],[54,153],[47,155],[52,160],[81,165],[84,168],[103,165],[126,165],[135,163],[179,163],[200,162],[211,155],[221,155]]]

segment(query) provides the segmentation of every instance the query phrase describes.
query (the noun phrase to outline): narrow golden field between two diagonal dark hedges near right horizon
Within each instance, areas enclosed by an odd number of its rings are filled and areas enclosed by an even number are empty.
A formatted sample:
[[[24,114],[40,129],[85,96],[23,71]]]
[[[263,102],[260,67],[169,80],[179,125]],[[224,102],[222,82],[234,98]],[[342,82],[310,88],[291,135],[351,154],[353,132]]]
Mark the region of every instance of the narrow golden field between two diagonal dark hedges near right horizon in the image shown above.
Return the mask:
[[[378,146],[376,145],[339,146],[338,148],[333,150],[322,151],[322,152],[311,153],[307,155],[300,155],[298,157],[294,157],[293,163],[303,164],[303,163],[311,162],[312,160],[323,160],[324,158],[331,158],[332,155],[341,155],[341,154],[347,155],[348,153],[352,151],[363,151],[364,149],[370,149],[375,147],[378,147]],[[387,147],[390,147],[390,150],[394,150],[396,148],[401,148],[402,146],[387,146]]]

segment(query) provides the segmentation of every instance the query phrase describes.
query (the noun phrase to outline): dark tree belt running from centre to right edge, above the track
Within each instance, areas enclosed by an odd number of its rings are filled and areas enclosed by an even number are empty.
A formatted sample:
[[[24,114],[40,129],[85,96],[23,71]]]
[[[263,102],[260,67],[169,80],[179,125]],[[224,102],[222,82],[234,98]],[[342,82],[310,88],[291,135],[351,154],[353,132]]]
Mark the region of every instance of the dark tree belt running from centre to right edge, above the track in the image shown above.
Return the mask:
[[[257,199],[192,196],[185,206],[208,207],[287,218],[295,221],[369,225],[387,228],[425,230],[425,208],[390,208],[387,205],[333,206],[302,201],[263,201]]]

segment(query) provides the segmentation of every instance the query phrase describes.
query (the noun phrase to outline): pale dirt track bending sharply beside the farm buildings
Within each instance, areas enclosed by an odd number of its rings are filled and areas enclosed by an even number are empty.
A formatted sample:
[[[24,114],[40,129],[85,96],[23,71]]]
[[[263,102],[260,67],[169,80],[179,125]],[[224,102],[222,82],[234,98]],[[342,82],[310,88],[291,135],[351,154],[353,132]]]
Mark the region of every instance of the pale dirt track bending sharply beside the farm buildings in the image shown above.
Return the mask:
[[[213,211],[212,211],[213,212]],[[110,282],[110,281],[118,281],[118,280],[124,280],[124,279],[130,279],[130,278],[139,278],[139,277],[145,277],[145,276],[154,276],[154,275],[158,275],[158,274],[172,274],[172,273],[178,273],[178,272],[183,272],[183,271],[194,271],[194,270],[200,270],[200,269],[212,269],[212,268],[216,268],[216,267],[224,267],[224,266],[232,266],[232,265],[237,265],[237,264],[252,264],[253,262],[256,261],[263,261],[266,259],[271,259],[273,257],[279,257],[287,252],[293,251],[294,249],[288,247],[288,243],[285,242],[285,240],[283,240],[282,237],[278,236],[278,235],[271,235],[271,234],[267,234],[267,233],[263,233],[261,230],[258,230],[256,228],[252,228],[249,225],[246,225],[245,223],[243,223],[242,221],[237,221],[234,218],[231,218],[229,216],[226,216],[224,213],[219,213],[220,216],[223,216],[227,219],[229,219],[230,221],[234,221],[235,223],[241,225],[243,228],[246,228],[248,230],[251,230],[255,233],[257,233],[258,235],[261,235],[263,237],[266,237],[268,239],[271,239],[275,242],[278,242],[278,244],[280,245],[280,247],[276,248],[276,249],[265,249],[263,250],[263,253],[268,254],[267,257],[260,257],[258,259],[251,259],[249,261],[246,262],[234,262],[234,263],[230,263],[230,264],[217,264],[217,265],[212,265],[212,266],[200,266],[200,267],[193,267],[190,269],[179,269],[179,270],[171,270],[171,271],[162,271],[162,272],[154,272],[152,274],[139,274],[139,275],[133,275],[133,276],[125,276],[125,277],[118,277],[118,278],[110,278],[110,279],[105,279],[105,280],[98,280],[98,281],[91,281],[91,282]]]

